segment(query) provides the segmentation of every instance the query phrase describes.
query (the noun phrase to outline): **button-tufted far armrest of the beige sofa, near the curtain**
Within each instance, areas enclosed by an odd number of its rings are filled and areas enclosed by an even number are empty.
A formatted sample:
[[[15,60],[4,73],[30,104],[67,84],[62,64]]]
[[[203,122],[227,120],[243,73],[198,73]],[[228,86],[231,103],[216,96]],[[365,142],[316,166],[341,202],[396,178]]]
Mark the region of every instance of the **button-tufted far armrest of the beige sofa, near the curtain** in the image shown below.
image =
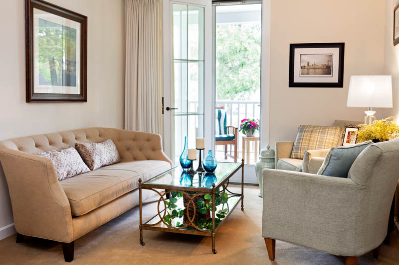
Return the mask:
[[[120,130],[120,140],[123,150],[119,150],[122,160],[161,160],[171,164],[162,148],[161,135],[156,133]],[[118,147],[118,146],[117,146]]]

